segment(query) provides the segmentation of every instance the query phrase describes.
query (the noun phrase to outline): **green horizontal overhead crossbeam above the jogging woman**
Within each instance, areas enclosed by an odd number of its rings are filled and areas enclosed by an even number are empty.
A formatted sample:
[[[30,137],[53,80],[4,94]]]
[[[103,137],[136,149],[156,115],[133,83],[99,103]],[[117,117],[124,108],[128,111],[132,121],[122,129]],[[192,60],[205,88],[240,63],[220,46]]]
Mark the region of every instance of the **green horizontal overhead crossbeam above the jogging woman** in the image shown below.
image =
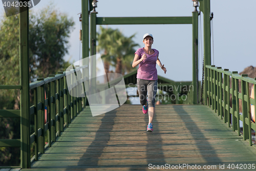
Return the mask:
[[[118,24],[192,24],[191,16],[175,17],[97,17],[97,25]]]

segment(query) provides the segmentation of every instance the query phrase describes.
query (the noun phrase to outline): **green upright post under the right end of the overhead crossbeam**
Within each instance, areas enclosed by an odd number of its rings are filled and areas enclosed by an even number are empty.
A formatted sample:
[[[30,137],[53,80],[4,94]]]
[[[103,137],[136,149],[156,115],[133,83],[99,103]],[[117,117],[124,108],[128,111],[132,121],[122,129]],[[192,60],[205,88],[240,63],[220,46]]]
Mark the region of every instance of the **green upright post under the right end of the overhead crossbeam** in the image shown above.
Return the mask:
[[[195,11],[192,12],[193,17],[193,38],[192,38],[192,51],[193,51],[193,103],[198,104],[198,11],[197,7],[195,7]]]

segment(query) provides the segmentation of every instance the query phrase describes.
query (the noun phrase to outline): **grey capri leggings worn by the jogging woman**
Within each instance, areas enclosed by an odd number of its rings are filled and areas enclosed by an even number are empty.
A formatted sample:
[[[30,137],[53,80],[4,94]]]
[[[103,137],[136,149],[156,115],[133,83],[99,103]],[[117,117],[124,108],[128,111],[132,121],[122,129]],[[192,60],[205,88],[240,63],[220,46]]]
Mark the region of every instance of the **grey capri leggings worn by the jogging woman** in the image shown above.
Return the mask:
[[[146,94],[148,107],[155,107],[155,98],[157,94],[157,80],[137,79],[137,87],[140,97],[140,104],[146,104]]]

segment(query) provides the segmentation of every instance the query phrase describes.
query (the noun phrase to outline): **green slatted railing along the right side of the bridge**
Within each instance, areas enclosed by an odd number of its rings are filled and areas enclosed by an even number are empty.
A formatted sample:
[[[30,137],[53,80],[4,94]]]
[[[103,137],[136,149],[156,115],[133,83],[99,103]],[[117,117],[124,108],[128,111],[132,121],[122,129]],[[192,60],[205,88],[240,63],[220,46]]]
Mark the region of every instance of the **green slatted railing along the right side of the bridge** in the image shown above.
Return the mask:
[[[247,74],[239,75],[237,71],[228,71],[214,65],[206,65],[205,81],[208,87],[205,89],[208,105],[218,112],[218,116],[232,127],[233,131],[242,136],[252,145],[251,129],[256,130],[256,124],[251,121],[251,104],[256,106],[255,99],[250,98],[250,87],[255,87],[256,78],[251,79]],[[241,92],[239,85],[241,82]],[[254,97],[256,90],[254,89]],[[242,105],[239,105],[239,101]],[[242,107],[242,114],[239,108]],[[254,113],[255,114],[255,113]],[[243,122],[243,134],[240,133],[240,121]]]

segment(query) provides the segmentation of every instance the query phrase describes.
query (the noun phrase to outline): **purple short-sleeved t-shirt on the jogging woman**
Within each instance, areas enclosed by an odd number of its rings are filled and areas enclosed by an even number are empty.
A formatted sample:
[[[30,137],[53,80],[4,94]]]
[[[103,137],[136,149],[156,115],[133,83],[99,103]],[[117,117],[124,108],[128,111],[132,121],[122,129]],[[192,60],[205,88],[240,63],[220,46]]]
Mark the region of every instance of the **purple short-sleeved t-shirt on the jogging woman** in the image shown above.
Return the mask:
[[[139,48],[135,54],[139,55],[139,59],[141,59],[141,56],[145,53],[146,59],[143,60],[139,64],[139,68],[137,71],[137,78],[143,79],[143,80],[157,80],[157,68],[156,68],[156,62],[157,57],[159,55],[159,51],[156,49],[153,49],[155,51],[154,54],[146,54],[143,48]]]

